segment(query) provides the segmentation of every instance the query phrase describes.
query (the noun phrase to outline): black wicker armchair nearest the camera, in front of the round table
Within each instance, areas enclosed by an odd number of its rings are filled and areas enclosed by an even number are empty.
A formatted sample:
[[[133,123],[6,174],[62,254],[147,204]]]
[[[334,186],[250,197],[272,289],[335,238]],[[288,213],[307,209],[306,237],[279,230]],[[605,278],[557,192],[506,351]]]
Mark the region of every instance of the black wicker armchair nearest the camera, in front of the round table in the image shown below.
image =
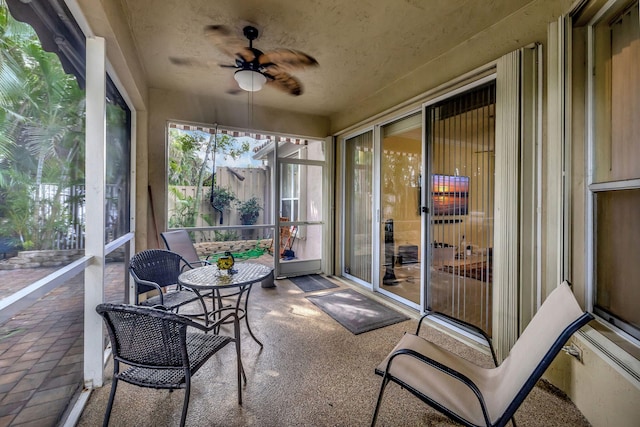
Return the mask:
[[[128,304],[100,304],[113,352],[113,382],[103,426],[108,426],[118,381],[155,389],[185,389],[180,425],[189,407],[191,377],[220,349],[235,342],[238,371],[238,403],[242,404],[240,326],[234,313],[227,313],[208,327],[162,308]],[[234,336],[211,333],[223,322],[233,322]],[[197,329],[198,331],[195,331]],[[202,332],[201,332],[202,331]],[[203,333],[204,332],[204,333]],[[120,371],[120,363],[127,368]]]

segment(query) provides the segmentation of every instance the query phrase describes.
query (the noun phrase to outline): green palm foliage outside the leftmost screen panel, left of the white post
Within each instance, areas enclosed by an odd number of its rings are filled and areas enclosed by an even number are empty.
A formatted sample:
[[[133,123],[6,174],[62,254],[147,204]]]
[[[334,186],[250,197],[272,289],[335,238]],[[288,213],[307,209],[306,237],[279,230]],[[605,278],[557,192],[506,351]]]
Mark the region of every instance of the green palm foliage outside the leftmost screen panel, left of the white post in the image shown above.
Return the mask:
[[[25,249],[53,249],[69,230],[60,196],[84,181],[84,113],[75,77],[0,0],[0,234]]]

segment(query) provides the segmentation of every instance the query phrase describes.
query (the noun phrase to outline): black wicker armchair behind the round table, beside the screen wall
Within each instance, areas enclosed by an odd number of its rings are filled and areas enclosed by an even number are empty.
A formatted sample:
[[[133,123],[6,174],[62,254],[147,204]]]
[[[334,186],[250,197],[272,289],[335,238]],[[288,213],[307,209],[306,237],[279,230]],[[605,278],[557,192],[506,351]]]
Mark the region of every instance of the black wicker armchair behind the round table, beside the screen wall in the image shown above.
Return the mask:
[[[136,283],[136,305],[161,305],[168,310],[177,311],[185,304],[200,301],[203,313],[206,313],[202,293],[194,292],[178,284],[178,276],[191,264],[179,254],[163,249],[148,249],[135,254],[129,263],[129,272]],[[139,295],[158,291],[158,295],[147,298],[142,303]]]

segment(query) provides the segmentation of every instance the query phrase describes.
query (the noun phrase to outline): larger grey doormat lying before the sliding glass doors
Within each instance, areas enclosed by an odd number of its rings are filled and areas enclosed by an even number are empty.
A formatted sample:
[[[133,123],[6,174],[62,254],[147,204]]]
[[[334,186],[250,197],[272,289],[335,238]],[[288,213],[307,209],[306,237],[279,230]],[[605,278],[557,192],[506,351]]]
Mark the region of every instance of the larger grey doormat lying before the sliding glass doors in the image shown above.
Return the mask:
[[[352,289],[311,295],[307,299],[354,335],[409,320],[404,314]]]

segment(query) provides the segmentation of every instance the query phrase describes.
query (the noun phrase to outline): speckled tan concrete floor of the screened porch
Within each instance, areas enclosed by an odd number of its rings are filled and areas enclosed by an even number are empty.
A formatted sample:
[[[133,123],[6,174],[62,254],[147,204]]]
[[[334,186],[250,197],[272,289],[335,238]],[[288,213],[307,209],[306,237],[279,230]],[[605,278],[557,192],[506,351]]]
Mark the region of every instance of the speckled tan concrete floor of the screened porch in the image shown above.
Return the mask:
[[[348,285],[336,281],[341,288]],[[382,329],[353,335],[305,297],[289,280],[275,288],[251,291],[250,323],[263,349],[243,329],[242,360],[247,373],[243,404],[238,405],[233,346],[211,358],[193,377],[188,426],[366,426],[371,422],[380,377],[375,366],[406,331],[415,331],[415,317]],[[422,335],[477,363],[489,356],[461,344],[434,328]],[[564,354],[560,357],[568,357]],[[107,367],[110,376],[112,367]],[[111,386],[93,391],[78,423],[97,426]],[[169,393],[118,385],[112,426],[173,426],[180,421],[184,392]],[[588,426],[575,406],[541,382],[516,414],[518,426]],[[447,418],[395,384],[387,387],[379,426],[448,426]]]

